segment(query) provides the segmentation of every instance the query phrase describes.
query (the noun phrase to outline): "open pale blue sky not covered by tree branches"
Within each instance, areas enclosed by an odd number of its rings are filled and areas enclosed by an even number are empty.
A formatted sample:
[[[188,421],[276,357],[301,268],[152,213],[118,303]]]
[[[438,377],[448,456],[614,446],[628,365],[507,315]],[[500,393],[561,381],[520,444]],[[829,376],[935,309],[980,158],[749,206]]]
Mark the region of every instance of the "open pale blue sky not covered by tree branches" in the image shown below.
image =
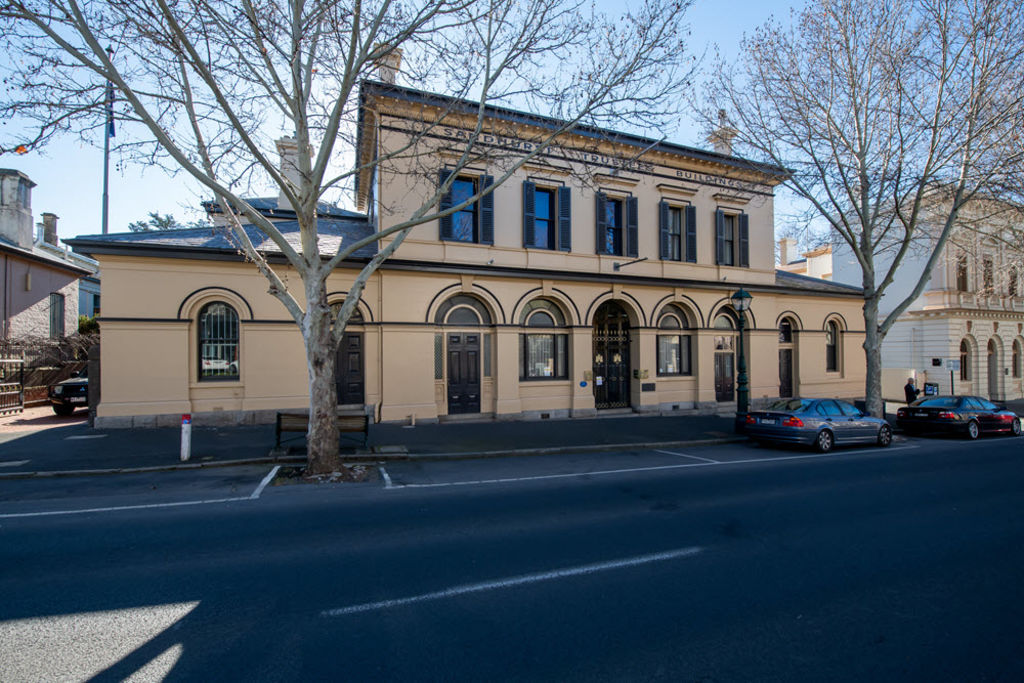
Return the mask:
[[[618,11],[622,4],[622,0],[597,2],[599,8],[609,13]],[[772,15],[784,19],[791,4],[780,0],[729,0],[727,3],[695,0],[687,14],[691,50],[698,55],[707,51],[710,58],[714,46],[718,45],[725,56],[735,55],[744,33]],[[695,124],[685,119],[672,141],[708,146]],[[57,232],[60,239],[101,231],[101,146],[91,146],[77,138],[58,139],[27,155],[2,155],[0,168],[19,170],[36,182],[32,197],[36,220],[41,220],[43,212],[55,213],[59,217]],[[143,220],[153,211],[174,214],[182,222],[203,217],[198,209],[199,202],[209,194],[183,173],[169,176],[157,167],[122,167],[113,155],[110,173],[111,232],[126,231],[128,223]]]

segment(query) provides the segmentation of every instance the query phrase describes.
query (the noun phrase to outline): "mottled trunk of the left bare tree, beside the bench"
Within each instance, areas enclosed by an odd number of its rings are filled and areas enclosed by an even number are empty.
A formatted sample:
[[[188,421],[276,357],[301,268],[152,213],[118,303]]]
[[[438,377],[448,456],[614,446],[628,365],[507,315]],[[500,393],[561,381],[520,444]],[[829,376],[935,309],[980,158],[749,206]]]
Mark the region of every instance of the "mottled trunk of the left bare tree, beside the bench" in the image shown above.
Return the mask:
[[[326,474],[341,469],[338,452],[338,394],[334,382],[335,348],[326,283],[306,288],[303,337],[309,374],[309,429],[306,432],[306,473]]]

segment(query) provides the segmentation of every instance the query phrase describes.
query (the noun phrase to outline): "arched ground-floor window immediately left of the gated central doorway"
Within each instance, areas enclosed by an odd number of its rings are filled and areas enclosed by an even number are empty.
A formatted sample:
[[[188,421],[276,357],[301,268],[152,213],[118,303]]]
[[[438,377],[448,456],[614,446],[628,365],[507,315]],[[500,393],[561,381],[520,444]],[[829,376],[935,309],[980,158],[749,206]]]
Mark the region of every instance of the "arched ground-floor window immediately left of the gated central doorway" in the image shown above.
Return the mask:
[[[568,379],[569,336],[555,333],[565,327],[565,315],[558,305],[534,299],[523,307],[519,325],[529,330],[519,335],[519,379]]]

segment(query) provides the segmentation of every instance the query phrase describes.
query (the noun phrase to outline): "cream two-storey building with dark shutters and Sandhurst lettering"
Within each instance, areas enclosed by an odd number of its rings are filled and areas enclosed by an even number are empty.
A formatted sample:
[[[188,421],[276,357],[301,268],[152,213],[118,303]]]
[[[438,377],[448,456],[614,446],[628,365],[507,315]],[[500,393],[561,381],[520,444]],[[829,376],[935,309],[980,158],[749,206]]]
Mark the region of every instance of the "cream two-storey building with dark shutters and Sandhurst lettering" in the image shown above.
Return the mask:
[[[421,140],[429,154],[359,178],[358,213],[322,207],[327,252],[432,197],[477,106],[380,82],[366,82],[360,101],[368,160],[430,117],[442,125]],[[480,150],[529,151],[552,123],[488,108]],[[860,290],[776,271],[773,193],[784,170],[737,158],[727,142],[709,152],[579,129],[482,200],[413,228],[371,279],[338,349],[339,400],[379,421],[734,411],[729,297],[739,287],[754,297],[744,340],[756,404],[862,395]],[[279,143],[283,162],[291,148]],[[494,182],[501,168],[485,157],[458,174],[441,207]],[[253,205],[297,237],[286,202]],[[92,236],[74,247],[103,272],[97,426],[176,424],[182,413],[263,422],[307,404],[299,331],[222,228]],[[379,248],[337,268],[333,302]],[[298,276],[280,267],[301,300]]]

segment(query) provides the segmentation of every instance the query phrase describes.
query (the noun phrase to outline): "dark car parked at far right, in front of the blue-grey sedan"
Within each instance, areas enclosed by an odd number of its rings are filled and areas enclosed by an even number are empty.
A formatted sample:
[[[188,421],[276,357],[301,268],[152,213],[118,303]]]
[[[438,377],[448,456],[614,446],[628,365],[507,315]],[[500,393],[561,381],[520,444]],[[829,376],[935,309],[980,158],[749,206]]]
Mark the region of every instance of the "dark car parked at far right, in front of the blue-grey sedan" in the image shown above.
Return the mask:
[[[963,434],[972,439],[985,432],[1021,433],[1016,413],[980,396],[920,398],[896,412],[896,424],[908,434]]]

